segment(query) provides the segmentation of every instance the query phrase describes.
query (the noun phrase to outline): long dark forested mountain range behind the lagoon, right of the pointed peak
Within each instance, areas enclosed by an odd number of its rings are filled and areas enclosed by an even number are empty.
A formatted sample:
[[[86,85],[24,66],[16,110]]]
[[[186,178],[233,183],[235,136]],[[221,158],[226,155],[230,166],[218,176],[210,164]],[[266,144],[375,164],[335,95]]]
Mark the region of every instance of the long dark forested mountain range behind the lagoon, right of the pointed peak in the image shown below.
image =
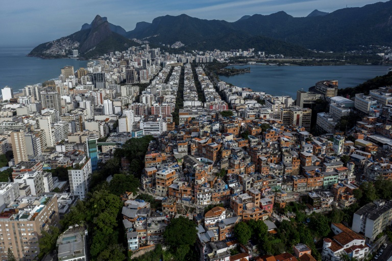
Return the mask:
[[[359,45],[390,45],[390,25],[392,1],[344,8],[322,16],[292,17],[281,11],[270,15],[255,14],[235,22],[203,20],[184,14],[166,15],[155,18],[152,23],[143,23],[143,29],[137,25],[135,30],[127,32],[127,37],[150,37],[149,41],[157,44],[171,44],[180,40],[192,46],[194,42],[239,32],[245,36],[275,38],[309,49],[347,51]]]

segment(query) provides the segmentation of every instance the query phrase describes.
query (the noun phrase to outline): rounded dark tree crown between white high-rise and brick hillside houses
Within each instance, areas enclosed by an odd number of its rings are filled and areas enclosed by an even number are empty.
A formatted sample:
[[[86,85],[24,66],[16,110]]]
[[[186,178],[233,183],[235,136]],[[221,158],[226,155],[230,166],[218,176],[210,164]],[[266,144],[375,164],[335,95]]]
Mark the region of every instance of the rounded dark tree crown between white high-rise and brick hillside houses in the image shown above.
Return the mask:
[[[140,182],[134,175],[114,174],[109,182],[109,191],[114,195],[121,195],[126,191],[136,194],[139,190]]]

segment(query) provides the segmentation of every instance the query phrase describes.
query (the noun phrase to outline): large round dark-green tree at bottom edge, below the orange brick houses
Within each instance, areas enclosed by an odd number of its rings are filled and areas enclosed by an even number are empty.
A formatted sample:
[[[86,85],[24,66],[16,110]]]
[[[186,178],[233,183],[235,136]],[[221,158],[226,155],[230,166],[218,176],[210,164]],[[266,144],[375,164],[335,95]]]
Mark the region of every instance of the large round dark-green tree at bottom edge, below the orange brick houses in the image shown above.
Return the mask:
[[[176,260],[184,260],[190,252],[190,246],[196,242],[197,233],[195,223],[180,216],[170,221],[163,232],[163,238],[170,252],[177,257]]]

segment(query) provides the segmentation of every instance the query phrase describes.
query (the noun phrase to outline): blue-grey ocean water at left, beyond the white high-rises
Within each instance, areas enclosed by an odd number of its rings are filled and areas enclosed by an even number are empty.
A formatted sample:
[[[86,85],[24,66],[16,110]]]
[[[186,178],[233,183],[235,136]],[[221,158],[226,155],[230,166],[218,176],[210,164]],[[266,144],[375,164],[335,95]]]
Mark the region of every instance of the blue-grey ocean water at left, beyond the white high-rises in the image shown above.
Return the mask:
[[[0,48],[0,89],[9,86],[14,93],[26,85],[40,84],[58,78],[61,68],[74,66],[77,70],[86,67],[88,61],[76,59],[41,59],[27,57],[31,48]],[[1,94],[1,93],[0,93]]]

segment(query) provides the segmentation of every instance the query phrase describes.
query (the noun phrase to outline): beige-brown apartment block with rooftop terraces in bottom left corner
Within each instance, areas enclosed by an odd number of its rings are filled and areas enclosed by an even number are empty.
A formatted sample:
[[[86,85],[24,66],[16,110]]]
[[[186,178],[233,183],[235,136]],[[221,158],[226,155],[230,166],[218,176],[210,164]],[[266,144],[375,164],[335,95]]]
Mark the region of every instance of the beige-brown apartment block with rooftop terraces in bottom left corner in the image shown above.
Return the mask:
[[[0,214],[4,234],[1,259],[7,260],[7,249],[11,249],[16,260],[36,260],[40,251],[38,242],[41,231],[59,225],[57,195],[25,196],[9,205],[11,207]]]

